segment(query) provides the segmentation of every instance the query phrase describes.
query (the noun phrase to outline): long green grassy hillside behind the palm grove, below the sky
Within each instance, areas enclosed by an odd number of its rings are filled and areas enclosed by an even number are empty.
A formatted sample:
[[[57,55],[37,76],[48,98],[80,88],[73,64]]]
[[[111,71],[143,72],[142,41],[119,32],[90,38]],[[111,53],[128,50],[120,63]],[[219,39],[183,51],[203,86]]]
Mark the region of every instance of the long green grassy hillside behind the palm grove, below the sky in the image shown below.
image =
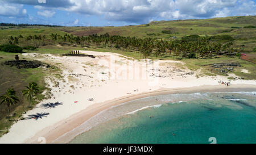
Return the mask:
[[[88,36],[94,33],[135,37],[158,37],[171,40],[185,35],[230,35],[234,40],[234,48],[242,48],[247,52],[253,51],[256,44],[256,29],[243,28],[256,26],[256,16],[232,16],[226,18],[153,21],[139,26],[122,27],[0,27],[0,43],[8,43],[9,36],[34,36],[57,33]]]

